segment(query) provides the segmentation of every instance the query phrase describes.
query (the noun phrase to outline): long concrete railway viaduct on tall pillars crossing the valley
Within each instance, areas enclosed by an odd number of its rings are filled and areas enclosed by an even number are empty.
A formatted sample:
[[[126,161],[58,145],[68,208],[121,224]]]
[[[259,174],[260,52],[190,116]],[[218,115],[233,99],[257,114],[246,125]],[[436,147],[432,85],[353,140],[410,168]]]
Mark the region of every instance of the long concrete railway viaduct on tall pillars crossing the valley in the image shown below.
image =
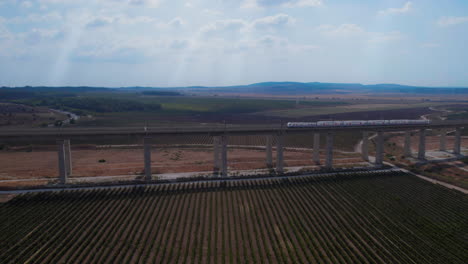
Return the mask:
[[[75,139],[93,137],[126,136],[143,139],[144,174],[146,180],[151,180],[151,148],[152,140],[159,136],[175,135],[206,135],[212,138],[213,144],[213,174],[227,177],[228,175],[228,139],[231,136],[257,135],[265,137],[265,165],[272,168],[275,164],[275,172],[284,172],[284,136],[300,133],[308,133],[313,140],[312,160],[320,164],[319,150],[320,138],[324,136],[325,163],[327,169],[333,168],[333,142],[334,135],[339,131],[359,131],[362,133],[362,158],[369,161],[369,134],[376,135],[375,166],[383,165],[384,134],[388,132],[404,132],[404,155],[411,157],[411,133],[419,134],[419,147],[417,158],[426,159],[426,134],[428,130],[439,131],[440,150],[447,151],[446,135],[448,131],[455,132],[453,154],[461,155],[461,133],[468,126],[468,120],[434,121],[430,124],[405,124],[405,125],[373,125],[373,126],[342,126],[342,127],[308,127],[287,128],[285,125],[200,125],[191,127],[125,127],[125,128],[38,128],[38,129],[2,129],[0,141],[3,140],[54,140],[58,146],[58,168],[60,183],[67,183],[72,174],[71,144]],[[276,146],[273,146],[275,142]],[[276,160],[273,163],[273,148],[276,148]]]

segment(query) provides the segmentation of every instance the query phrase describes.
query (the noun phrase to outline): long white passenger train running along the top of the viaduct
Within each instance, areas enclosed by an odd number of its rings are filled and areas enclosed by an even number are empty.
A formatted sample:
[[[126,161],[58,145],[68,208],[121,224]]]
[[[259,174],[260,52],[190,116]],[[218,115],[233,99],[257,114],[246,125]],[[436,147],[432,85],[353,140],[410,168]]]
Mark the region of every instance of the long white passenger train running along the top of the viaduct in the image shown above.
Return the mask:
[[[318,122],[289,122],[288,128],[306,127],[343,127],[343,126],[384,126],[384,125],[424,125],[430,120],[347,120],[347,121],[318,121]]]

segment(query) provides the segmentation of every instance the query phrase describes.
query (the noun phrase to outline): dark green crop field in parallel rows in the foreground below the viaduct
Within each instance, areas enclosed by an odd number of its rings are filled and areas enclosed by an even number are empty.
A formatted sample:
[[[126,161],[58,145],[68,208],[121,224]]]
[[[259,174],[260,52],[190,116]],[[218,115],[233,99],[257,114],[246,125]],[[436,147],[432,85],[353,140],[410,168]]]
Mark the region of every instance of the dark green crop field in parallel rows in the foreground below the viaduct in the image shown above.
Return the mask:
[[[29,193],[1,263],[466,263],[468,197],[402,172]]]

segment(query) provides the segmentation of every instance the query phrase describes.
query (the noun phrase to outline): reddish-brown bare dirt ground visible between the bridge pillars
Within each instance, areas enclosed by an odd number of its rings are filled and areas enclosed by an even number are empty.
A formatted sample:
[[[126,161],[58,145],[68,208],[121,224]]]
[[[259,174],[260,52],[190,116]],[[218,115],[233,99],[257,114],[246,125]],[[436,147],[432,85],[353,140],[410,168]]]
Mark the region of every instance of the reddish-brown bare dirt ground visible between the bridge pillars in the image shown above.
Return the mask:
[[[154,174],[182,173],[213,170],[211,148],[162,148],[154,149],[152,171]],[[276,152],[273,151],[273,162]],[[324,160],[324,153],[321,159]],[[334,153],[336,164],[362,162],[358,154]],[[58,177],[57,152],[51,148],[33,151],[0,151],[0,181],[56,179]],[[312,150],[286,149],[285,166],[313,166]],[[229,170],[265,169],[265,150],[228,149]],[[142,175],[143,150],[134,149],[73,149],[73,177]],[[2,183],[2,186],[3,186]],[[11,185],[11,184],[8,184]]]

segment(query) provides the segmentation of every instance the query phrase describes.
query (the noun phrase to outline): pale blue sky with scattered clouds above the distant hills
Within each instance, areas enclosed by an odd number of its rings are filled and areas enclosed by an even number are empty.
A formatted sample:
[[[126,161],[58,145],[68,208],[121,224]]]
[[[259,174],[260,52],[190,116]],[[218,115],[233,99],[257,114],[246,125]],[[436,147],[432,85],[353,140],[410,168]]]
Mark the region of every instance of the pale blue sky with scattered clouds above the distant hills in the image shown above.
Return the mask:
[[[0,0],[0,86],[468,87],[466,0]]]

